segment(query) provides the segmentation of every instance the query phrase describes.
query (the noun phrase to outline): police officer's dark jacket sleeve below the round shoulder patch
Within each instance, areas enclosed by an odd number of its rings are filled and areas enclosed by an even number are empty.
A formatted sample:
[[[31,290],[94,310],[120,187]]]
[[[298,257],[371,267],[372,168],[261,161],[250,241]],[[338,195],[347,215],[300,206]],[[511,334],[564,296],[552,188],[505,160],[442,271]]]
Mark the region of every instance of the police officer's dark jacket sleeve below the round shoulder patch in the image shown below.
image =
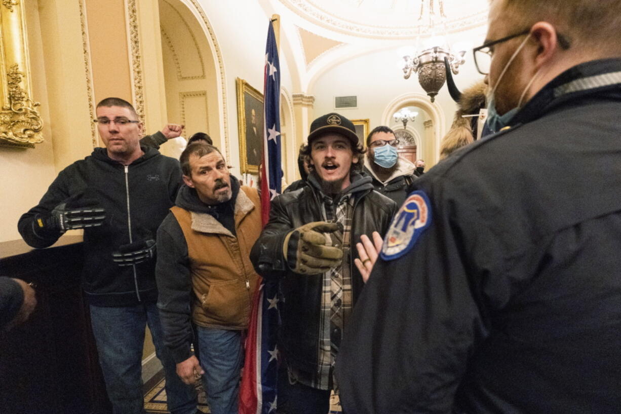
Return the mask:
[[[484,329],[461,229],[451,214],[432,210],[409,252],[378,259],[358,298],[337,362],[347,412],[451,413]]]

